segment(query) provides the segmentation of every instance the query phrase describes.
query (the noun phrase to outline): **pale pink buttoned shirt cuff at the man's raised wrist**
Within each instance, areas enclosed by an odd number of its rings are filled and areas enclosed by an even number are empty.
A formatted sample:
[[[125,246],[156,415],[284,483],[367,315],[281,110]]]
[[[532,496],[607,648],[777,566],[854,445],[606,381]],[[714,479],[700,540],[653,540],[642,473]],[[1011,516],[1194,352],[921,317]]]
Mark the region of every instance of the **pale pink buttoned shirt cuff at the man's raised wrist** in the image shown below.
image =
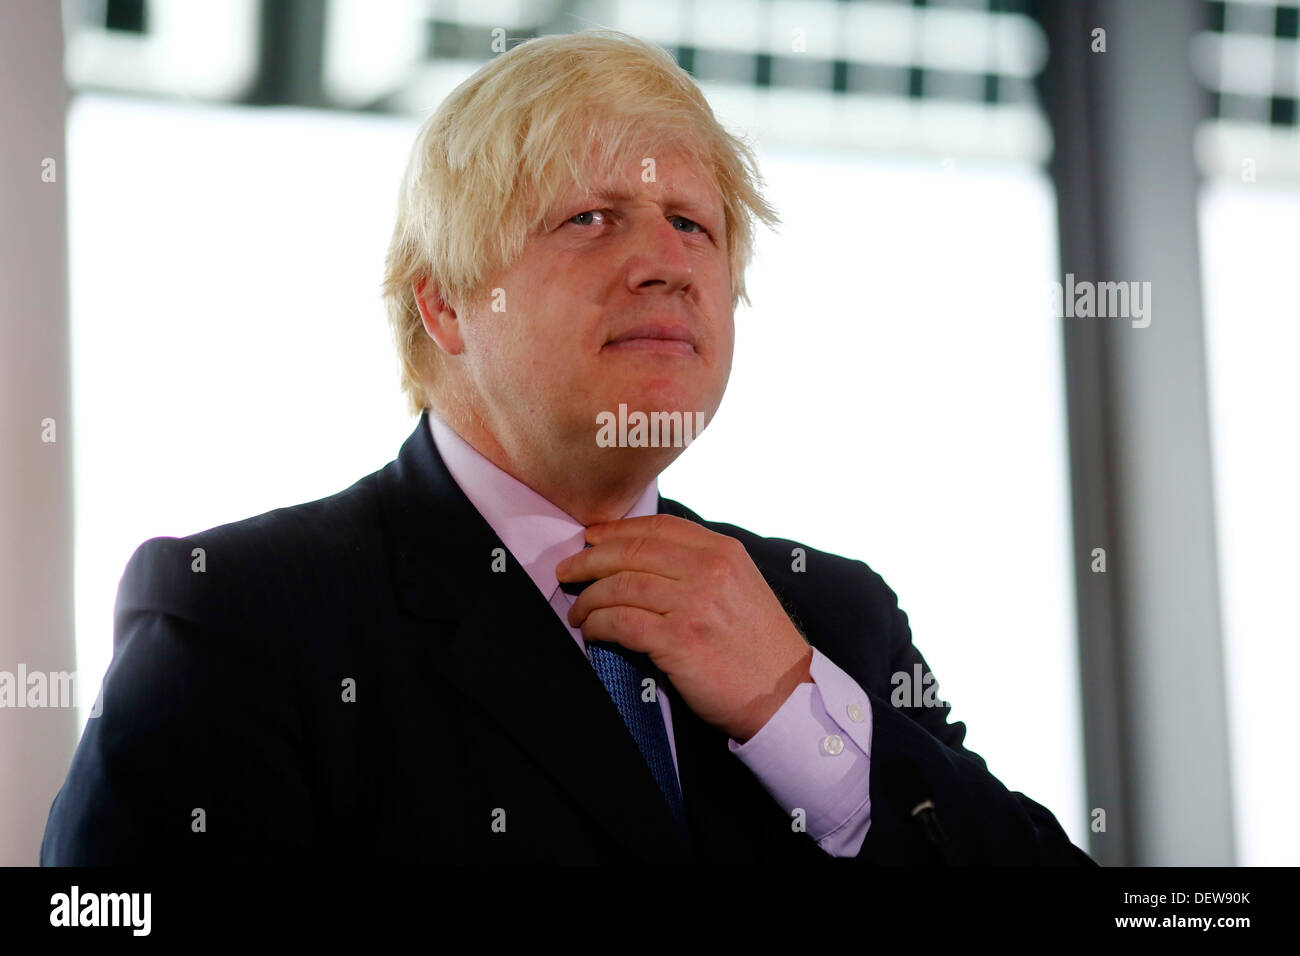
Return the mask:
[[[792,821],[832,856],[855,856],[871,823],[871,702],[816,648],[812,683],[800,684],[744,744],[728,749]]]

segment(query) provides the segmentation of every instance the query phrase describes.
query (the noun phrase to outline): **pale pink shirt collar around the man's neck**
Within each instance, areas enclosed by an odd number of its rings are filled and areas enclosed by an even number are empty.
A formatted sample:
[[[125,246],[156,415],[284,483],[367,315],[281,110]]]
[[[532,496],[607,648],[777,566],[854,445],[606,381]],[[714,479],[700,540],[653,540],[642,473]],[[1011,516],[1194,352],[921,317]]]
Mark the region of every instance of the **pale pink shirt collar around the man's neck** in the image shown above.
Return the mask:
[[[550,600],[559,587],[555,566],[582,550],[582,524],[484,458],[433,408],[428,411],[433,444],[452,480],[524,567],[542,597]],[[659,480],[651,479],[623,516],[644,518],[658,511]]]

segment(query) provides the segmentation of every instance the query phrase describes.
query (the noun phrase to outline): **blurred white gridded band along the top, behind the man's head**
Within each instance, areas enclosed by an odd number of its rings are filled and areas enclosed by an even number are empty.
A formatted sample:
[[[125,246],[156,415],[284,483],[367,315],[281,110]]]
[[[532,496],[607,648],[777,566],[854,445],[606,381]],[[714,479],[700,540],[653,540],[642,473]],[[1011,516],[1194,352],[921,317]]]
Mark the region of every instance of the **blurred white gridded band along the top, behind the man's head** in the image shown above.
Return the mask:
[[[220,5],[207,7],[199,34],[186,21],[198,21],[203,4],[69,0],[69,49],[126,44],[126,61],[153,64],[136,75],[99,55],[73,56],[69,79],[74,88],[424,113],[523,40],[607,26],[668,49],[731,105],[727,121],[763,139],[1032,161],[1050,148],[1034,88],[1046,43],[1028,0],[277,1],[282,16],[269,17],[273,8],[238,0],[247,26],[228,49],[214,38],[229,31],[211,22]],[[200,55],[230,61],[224,83],[186,78],[185,64]],[[809,116],[827,125],[810,127]]]

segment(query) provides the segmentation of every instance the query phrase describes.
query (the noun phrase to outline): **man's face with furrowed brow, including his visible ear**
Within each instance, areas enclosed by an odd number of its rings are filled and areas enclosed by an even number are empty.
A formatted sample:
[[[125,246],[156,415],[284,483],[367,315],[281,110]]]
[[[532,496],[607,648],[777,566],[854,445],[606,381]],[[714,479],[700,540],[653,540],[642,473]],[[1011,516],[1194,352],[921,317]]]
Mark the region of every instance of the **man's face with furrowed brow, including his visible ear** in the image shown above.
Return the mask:
[[[490,277],[504,311],[489,298],[462,315],[467,398],[511,458],[541,449],[601,467],[599,412],[708,421],[722,402],[734,343],[722,199],[685,153],[646,159],[650,182],[637,157],[563,194]],[[660,468],[680,454],[641,451]]]

